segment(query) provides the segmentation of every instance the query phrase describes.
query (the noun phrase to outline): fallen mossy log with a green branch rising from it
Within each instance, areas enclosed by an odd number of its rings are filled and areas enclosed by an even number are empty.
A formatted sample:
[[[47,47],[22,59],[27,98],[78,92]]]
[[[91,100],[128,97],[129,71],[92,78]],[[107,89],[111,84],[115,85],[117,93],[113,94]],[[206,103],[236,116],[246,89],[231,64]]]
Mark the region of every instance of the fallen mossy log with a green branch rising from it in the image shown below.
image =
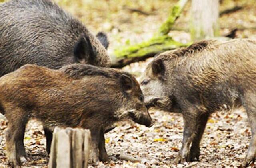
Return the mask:
[[[148,57],[153,57],[156,53],[187,46],[186,44],[174,41],[172,37],[167,35],[172,29],[174,22],[180,16],[187,1],[188,0],[178,1],[178,3],[172,8],[167,20],[161,25],[158,33],[156,33],[156,35],[150,40],[136,45],[122,47],[121,49],[116,49],[114,51],[112,67],[122,68],[130,63],[142,61]]]

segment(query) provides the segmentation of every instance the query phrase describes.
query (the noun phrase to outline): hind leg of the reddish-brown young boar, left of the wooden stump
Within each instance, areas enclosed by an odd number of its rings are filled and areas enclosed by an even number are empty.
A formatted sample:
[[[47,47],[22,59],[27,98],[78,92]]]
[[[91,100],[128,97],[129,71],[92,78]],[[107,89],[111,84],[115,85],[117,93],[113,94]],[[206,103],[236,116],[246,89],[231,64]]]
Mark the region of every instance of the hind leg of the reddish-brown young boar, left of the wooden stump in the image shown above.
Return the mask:
[[[19,116],[19,114],[22,116]],[[8,112],[7,112],[8,114]],[[24,133],[27,123],[26,116],[22,111],[12,111],[9,114],[15,114],[15,117],[6,115],[8,119],[8,130],[6,131],[6,152],[8,162],[12,166],[20,166],[20,157],[26,159],[26,153],[24,148]]]

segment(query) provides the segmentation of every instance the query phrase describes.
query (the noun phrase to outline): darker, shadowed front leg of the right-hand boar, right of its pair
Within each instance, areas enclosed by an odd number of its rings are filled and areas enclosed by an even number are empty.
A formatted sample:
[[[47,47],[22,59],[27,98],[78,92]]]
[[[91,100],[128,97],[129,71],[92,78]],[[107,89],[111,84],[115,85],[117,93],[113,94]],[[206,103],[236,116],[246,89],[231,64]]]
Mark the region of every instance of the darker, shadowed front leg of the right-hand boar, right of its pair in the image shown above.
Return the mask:
[[[192,142],[192,146],[190,148],[190,153],[188,156],[188,161],[193,162],[195,161],[195,158],[197,161],[199,161],[199,155],[200,155],[200,141],[202,139],[202,135],[204,133],[204,129],[206,126],[206,123],[208,121],[209,114],[203,113],[200,115],[200,118],[197,123],[197,134]]]

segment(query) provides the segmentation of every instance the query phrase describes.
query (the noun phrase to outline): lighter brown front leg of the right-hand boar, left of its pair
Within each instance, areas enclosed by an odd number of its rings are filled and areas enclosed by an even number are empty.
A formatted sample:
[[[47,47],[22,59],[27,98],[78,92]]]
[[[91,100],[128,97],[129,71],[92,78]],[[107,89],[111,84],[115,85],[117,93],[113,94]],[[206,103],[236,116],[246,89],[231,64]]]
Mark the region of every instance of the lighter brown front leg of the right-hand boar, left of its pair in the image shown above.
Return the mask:
[[[188,152],[190,148],[190,144],[194,140],[196,136],[196,112],[183,113],[184,120],[184,131],[183,131],[183,140],[182,147],[178,156],[174,159],[174,163],[182,163],[188,161]]]

